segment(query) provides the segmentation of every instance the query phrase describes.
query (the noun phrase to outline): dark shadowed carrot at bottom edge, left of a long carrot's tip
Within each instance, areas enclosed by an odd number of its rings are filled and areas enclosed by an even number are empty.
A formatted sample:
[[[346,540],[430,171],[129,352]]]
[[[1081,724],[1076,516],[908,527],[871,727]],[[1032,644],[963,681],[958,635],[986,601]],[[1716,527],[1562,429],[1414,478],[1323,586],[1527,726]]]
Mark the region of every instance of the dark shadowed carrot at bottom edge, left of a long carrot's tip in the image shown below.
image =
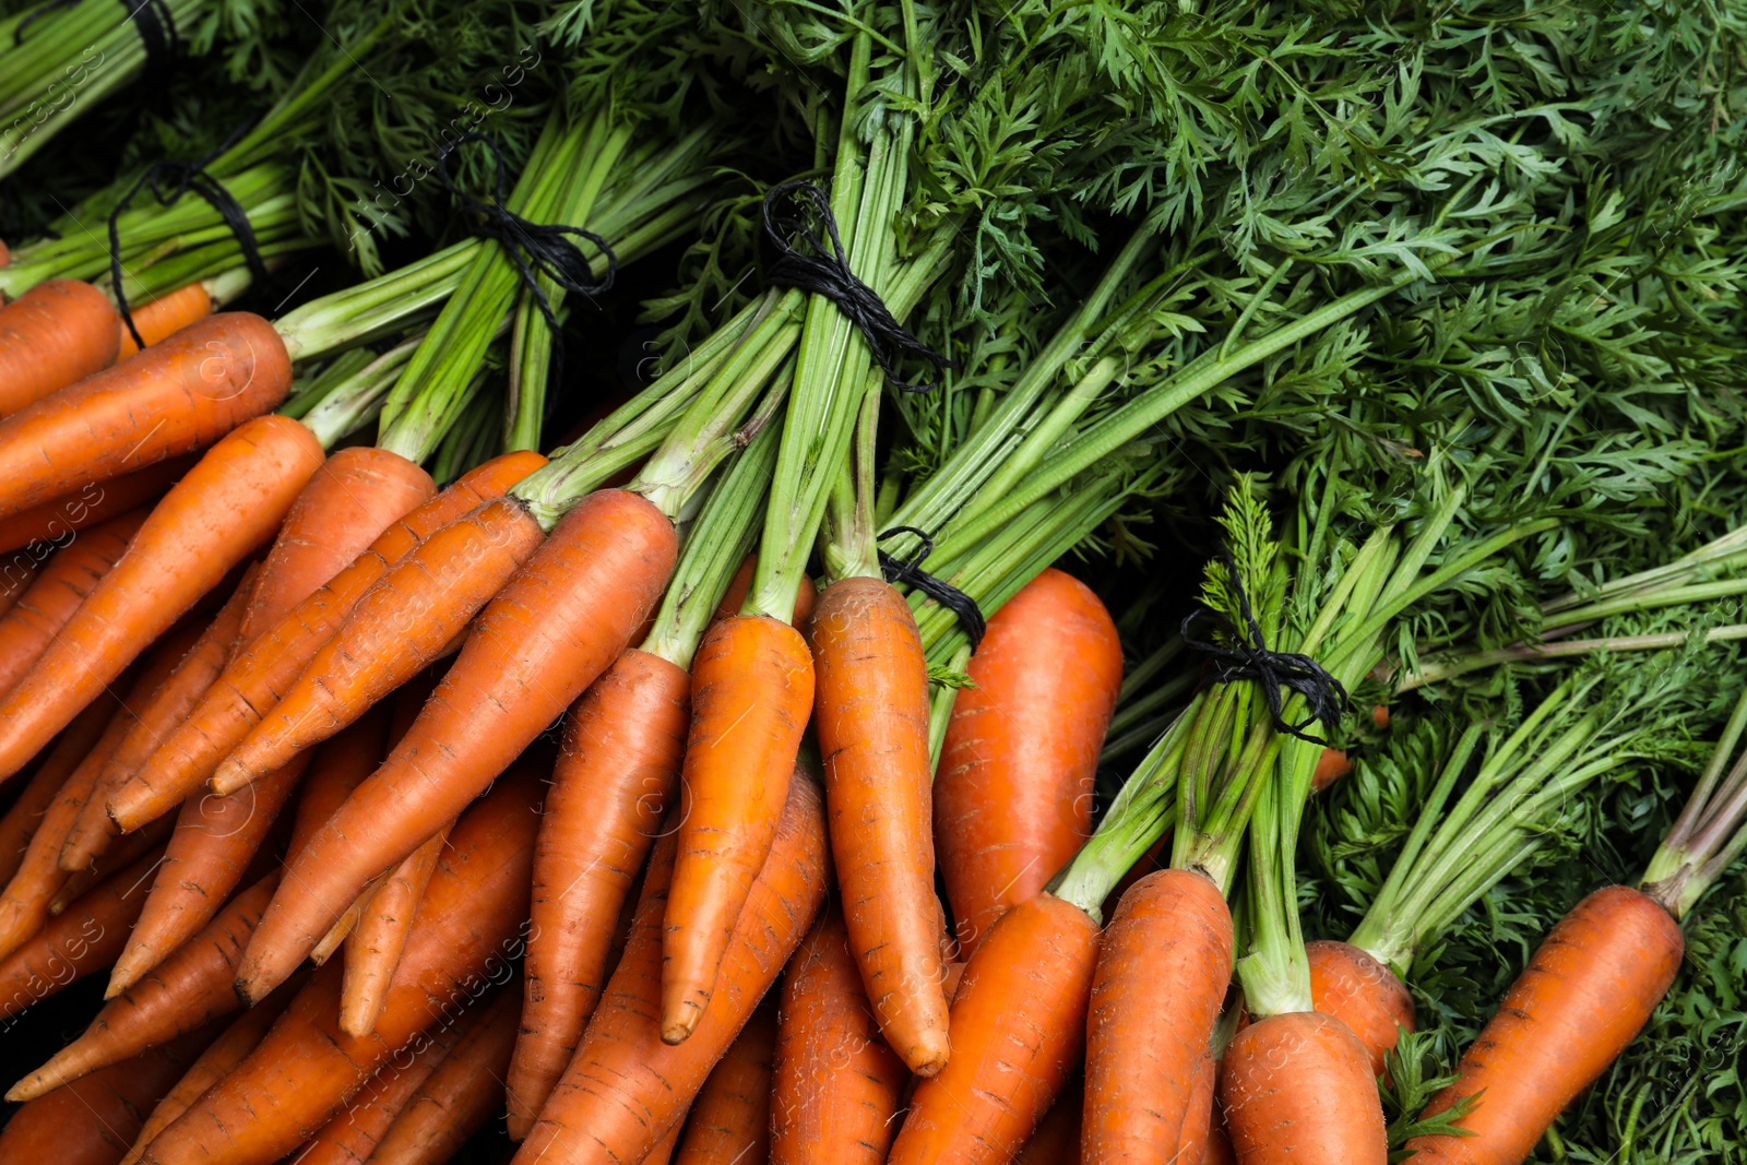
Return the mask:
[[[370,1165],[425,1165],[447,1162],[494,1113],[503,1111],[503,1074],[515,1044],[515,1006],[521,989],[512,983],[470,1015],[459,1043],[412,1093]],[[748,1162],[748,1165],[751,1165]]]

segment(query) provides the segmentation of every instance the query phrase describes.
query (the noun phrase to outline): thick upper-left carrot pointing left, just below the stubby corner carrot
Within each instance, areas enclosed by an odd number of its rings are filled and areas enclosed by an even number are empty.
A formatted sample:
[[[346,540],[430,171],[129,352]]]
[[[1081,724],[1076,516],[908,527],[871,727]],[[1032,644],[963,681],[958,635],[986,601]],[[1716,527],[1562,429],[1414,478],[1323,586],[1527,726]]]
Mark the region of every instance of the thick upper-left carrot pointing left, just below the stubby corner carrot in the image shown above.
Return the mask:
[[[208,316],[0,421],[0,517],[211,445],[278,407],[290,384],[273,325],[248,313]]]

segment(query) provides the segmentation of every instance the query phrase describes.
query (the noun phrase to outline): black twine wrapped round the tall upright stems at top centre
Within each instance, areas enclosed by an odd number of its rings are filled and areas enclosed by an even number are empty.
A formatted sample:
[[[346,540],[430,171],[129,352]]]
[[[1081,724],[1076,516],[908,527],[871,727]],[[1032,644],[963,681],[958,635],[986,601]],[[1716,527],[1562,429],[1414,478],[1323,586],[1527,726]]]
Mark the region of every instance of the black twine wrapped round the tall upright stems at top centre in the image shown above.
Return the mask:
[[[776,218],[776,204],[790,196],[800,194],[812,203],[812,211],[825,222],[825,231],[832,238],[832,245],[826,248],[825,239],[821,239],[812,229],[804,222],[795,218]],[[935,365],[935,372],[945,369],[956,369],[957,363],[947,360],[943,355],[936,353],[933,348],[915,339],[903,330],[891,311],[886,307],[874,288],[858,279],[849,269],[849,252],[844,250],[844,241],[837,234],[837,218],[832,215],[832,201],[825,196],[812,182],[805,178],[797,178],[795,182],[784,182],[781,185],[770,187],[763,201],[763,224],[765,238],[770,239],[770,246],[776,248],[776,262],[770,264],[765,276],[772,283],[781,283],[784,286],[798,286],[804,292],[818,292],[842,311],[853,325],[861,330],[861,335],[868,342],[874,358],[879,362],[880,372],[886,374],[886,381],[893,388],[900,388],[907,393],[926,393],[931,391],[938,381],[928,381],[926,384],[910,384],[898,376],[898,356],[910,355]],[[790,238],[798,236],[812,246],[812,255],[802,253],[790,245]]]

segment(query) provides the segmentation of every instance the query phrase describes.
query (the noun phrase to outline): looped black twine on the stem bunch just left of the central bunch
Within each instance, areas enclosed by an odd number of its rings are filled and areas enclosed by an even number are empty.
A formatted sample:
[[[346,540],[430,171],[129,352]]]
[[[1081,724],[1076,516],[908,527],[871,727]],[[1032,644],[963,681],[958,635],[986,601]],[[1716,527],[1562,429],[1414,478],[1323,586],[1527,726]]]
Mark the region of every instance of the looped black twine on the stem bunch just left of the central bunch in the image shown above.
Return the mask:
[[[466,190],[454,185],[449,178],[449,154],[468,141],[484,141],[491,148],[491,157],[496,161],[494,175],[494,203],[486,203],[473,197]],[[522,276],[522,285],[535,299],[535,306],[540,307],[540,314],[547,321],[547,328],[552,332],[552,367],[547,374],[549,384],[557,384],[563,381],[564,374],[564,335],[557,327],[557,314],[552,311],[552,300],[547,299],[545,288],[540,286],[536,276],[545,276],[557,283],[563,290],[571,295],[604,295],[613,288],[613,279],[618,276],[618,257],[613,255],[613,248],[606,245],[606,239],[597,236],[594,231],[583,231],[582,227],[566,227],[563,224],[538,224],[528,222],[515,211],[508,210],[508,182],[505,175],[508,166],[503,161],[503,147],[498,140],[484,133],[465,133],[454,141],[447,141],[437,152],[437,166],[433,171],[437,180],[444,189],[468,211],[479,217],[473,227],[473,234],[496,239],[503,253],[510,257],[515,264],[515,271]],[[599,283],[594,283],[594,269],[589,265],[589,257],[582,253],[582,246],[571,243],[564,236],[577,236],[578,239],[587,239],[599,248],[606,257],[606,274],[601,276]]]

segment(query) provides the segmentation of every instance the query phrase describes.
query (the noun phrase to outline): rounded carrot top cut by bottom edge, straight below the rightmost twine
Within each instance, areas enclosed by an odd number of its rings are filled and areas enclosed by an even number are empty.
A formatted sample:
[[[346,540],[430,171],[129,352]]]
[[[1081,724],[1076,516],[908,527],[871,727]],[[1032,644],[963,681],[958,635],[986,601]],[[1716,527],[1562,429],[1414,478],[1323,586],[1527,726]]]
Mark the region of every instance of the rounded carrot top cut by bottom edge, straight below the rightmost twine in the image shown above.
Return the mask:
[[[1371,1057],[1340,1020],[1289,1011],[1225,1050],[1219,1104],[1242,1165],[1385,1165]]]

